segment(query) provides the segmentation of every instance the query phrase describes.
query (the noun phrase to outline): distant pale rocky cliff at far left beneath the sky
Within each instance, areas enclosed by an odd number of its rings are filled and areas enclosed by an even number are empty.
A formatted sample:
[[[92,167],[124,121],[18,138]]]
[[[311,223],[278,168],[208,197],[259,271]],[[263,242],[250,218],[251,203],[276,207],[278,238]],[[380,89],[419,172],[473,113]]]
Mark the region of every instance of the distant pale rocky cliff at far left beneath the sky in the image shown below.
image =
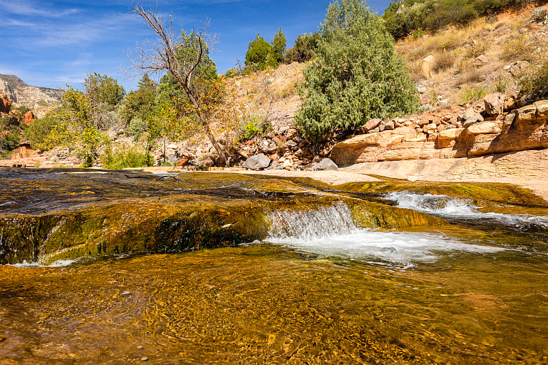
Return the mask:
[[[16,75],[0,74],[0,94],[12,99],[14,107],[25,106],[39,118],[58,105],[61,90],[29,86]]]

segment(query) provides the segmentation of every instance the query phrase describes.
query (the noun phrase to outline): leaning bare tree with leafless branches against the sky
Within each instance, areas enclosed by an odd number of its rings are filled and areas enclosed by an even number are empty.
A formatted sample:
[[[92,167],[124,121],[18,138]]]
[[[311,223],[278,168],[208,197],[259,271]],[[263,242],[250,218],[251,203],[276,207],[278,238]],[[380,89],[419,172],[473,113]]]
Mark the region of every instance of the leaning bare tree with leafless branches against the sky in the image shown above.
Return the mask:
[[[219,156],[225,164],[229,164],[229,160],[221,145],[215,140],[210,129],[210,121],[207,112],[208,108],[199,97],[199,83],[203,82],[204,70],[199,68],[204,59],[204,53],[209,49],[214,42],[214,36],[208,34],[208,23],[204,24],[201,29],[193,29],[192,36],[195,42],[182,42],[180,38],[175,38],[173,35],[173,14],[170,18],[169,29],[166,29],[162,16],[154,14],[154,10],[147,10],[141,5],[134,5],[132,13],[140,16],[142,21],[151,27],[155,34],[160,38],[157,45],[145,47],[138,45],[136,52],[130,60],[134,66],[142,73],[162,73],[169,71],[175,77],[175,80],[180,84],[190,101],[193,111],[197,114],[204,131],[213,144],[214,149],[219,153]],[[194,47],[192,52],[177,52],[181,47]],[[207,100],[207,98],[206,98]]]

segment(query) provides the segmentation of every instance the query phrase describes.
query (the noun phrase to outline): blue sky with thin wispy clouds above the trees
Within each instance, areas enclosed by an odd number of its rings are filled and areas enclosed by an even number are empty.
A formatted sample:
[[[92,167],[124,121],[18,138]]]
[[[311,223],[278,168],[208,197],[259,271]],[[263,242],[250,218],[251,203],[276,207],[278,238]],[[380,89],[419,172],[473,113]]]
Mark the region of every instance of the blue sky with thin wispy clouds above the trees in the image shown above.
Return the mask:
[[[282,27],[288,47],[298,34],[315,32],[330,0],[158,0],[164,17],[173,13],[174,28],[198,27],[210,18],[210,32],[219,42],[211,54],[219,73],[245,59],[248,43],[260,33],[272,40]],[[369,1],[382,14],[389,0]],[[82,87],[86,73],[118,79],[126,90],[138,77],[127,51],[136,42],[154,40],[151,30],[132,16],[125,0],[0,0],[0,73],[21,77],[27,84],[59,88]],[[156,1],[141,1],[145,7]],[[158,77],[156,77],[158,78]]]

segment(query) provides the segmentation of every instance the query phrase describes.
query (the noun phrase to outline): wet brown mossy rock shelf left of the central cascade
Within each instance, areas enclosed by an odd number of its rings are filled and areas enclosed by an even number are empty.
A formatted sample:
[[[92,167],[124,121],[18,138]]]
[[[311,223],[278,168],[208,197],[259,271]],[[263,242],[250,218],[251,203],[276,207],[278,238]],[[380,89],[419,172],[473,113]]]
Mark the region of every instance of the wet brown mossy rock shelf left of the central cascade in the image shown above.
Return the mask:
[[[1,264],[234,246],[264,238],[270,211],[347,199],[310,179],[229,173],[3,168],[0,176]],[[431,221],[372,199],[351,204]],[[377,221],[369,223],[388,227]]]

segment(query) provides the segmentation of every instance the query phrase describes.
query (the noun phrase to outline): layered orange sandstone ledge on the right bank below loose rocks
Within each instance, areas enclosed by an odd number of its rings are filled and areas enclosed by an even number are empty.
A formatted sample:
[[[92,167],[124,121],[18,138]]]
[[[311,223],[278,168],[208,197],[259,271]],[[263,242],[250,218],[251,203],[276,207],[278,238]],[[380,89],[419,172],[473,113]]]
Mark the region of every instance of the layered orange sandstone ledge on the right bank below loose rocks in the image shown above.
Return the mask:
[[[470,158],[548,148],[548,100],[464,128],[398,127],[354,136],[333,147],[339,166],[364,162]],[[435,123],[432,123],[435,125]],[[447,128],[447,129],[446,129]]]

